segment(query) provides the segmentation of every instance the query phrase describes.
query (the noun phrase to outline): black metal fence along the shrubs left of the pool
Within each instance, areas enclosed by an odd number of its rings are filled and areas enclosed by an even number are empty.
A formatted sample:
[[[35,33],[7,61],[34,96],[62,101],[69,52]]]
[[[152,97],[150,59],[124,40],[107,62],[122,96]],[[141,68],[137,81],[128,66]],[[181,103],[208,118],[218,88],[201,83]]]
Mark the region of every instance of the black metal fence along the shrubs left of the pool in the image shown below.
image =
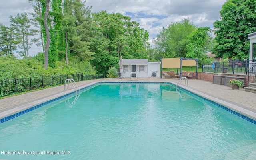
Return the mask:
[[[16,78],[10,80],[0,80],[0,97],[28,92],[39,88],[57,86],[64,84],[66,79],[74,79],[74,81],[83,81],[104,78],[104,76],[83,75],[83,74],[67,74],[59,76],[42,76],[30,78]]]

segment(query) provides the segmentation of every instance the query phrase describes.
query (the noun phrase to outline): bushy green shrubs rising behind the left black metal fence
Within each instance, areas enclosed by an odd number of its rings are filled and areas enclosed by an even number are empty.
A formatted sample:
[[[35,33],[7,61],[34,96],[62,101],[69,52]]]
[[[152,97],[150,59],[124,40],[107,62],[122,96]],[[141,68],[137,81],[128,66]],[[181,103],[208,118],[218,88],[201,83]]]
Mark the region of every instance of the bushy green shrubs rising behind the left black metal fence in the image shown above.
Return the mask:
[[[78,73],[97,76],[95,67],[88,60],[80,61],[73,58],[69,65],[66,62],[57,61],[55,69],[48,67],[47,70],[44,70],[43,58],[42,53],[28,59],[0,56],[0,80]]]

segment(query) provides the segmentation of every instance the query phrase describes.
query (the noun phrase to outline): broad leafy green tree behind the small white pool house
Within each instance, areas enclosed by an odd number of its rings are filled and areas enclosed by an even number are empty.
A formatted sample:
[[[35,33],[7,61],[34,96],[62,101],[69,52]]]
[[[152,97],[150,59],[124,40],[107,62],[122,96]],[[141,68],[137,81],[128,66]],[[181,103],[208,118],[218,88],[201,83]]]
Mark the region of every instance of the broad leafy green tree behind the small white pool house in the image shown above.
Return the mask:
[[[107,74],[110,66],[118,68],[123,58],[146,58],[149,46],[148,31],[139,23],[120,13],[106,11],[93,14],[91,51],[95,52],[92,63],[100,74]]]

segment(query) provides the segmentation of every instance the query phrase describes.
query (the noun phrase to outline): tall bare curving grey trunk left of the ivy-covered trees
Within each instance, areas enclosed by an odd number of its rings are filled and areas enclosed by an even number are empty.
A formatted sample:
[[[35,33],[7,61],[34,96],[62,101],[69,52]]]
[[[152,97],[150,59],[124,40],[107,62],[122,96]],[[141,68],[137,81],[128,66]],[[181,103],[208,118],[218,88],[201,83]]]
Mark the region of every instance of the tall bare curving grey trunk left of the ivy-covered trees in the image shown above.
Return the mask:
[[[49,14],[49,3],[50,0],[46,0],[46,10],[44,12],[44,28],[46,33],[46,45],[44,49],[44,69],[46,70],[48,68],[48,54],[49,54],[49,47],[50,47],[50,31],[49,27],[47,25],[47,17]]]

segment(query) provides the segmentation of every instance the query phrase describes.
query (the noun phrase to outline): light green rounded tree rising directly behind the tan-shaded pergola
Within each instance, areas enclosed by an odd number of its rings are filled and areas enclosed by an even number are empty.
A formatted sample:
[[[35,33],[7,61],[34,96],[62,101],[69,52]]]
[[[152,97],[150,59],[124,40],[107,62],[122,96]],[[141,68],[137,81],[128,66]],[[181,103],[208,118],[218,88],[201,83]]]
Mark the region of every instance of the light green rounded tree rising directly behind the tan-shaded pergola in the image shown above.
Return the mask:
[[[185,57],[186,45],[190,41],[190,34],[196,30],[196,26],[188,18],[171,23],[163,28],[153,40],[158,57],[172,58]]]

